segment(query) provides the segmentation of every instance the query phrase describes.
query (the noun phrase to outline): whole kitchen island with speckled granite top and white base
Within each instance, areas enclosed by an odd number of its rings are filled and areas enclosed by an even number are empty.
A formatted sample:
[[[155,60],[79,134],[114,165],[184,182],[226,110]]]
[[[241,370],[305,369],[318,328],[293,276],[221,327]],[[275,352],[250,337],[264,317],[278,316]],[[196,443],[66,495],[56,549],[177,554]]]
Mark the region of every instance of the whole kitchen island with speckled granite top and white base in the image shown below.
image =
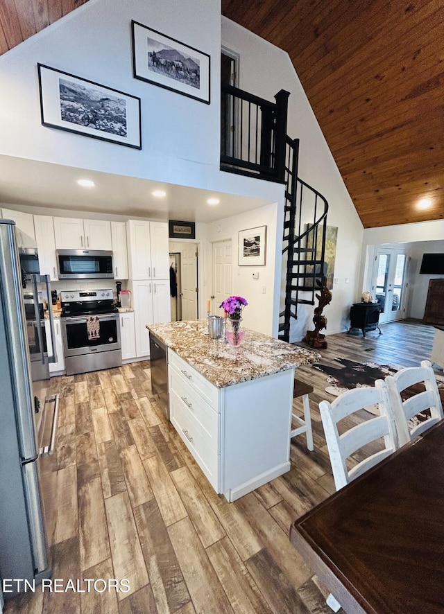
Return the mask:
[[[147,325],[168,348],[170,419],[228,501],[290,469],[293,380],[313,351],[245,329],[241,347],[205,335],[205,320]]]

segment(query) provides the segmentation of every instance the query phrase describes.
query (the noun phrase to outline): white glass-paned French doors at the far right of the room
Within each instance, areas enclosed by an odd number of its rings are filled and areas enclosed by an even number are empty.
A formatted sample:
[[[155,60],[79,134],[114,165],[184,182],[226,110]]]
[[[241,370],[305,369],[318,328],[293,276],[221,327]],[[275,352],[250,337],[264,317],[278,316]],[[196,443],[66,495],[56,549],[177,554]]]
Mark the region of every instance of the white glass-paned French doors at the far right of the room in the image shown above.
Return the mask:
[[[378,247],[373,269],[373,297],[382,306],[379,322],[404,317],[407,254],[402,249]]]

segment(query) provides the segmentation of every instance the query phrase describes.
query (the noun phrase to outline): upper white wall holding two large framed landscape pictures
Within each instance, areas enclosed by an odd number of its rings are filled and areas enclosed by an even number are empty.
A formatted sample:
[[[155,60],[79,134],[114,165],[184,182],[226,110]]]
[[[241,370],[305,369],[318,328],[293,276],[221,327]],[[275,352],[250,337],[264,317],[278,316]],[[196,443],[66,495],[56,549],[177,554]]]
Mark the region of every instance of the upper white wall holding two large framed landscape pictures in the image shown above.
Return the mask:
[[[133,78],[132,19],[210,54],[210,105]],[[219,0],[89,0],[0,56],[0,154],[274,201],[219,170],[220,49]],[[142,150],[42,126],[37,62],[141,98]]]

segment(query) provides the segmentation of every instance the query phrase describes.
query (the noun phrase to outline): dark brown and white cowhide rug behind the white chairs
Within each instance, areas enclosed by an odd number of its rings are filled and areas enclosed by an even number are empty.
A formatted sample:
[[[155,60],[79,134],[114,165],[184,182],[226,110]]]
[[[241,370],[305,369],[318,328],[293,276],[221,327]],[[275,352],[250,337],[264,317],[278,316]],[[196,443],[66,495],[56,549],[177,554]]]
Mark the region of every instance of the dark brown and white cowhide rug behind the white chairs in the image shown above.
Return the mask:
[[[383,380],[388,375],[393,375],[401,367],[394,367],[393,365],[377,365],[375,362],[355,362],[354,360],[347,360],[346,358],[335,358],[336,362],[339,362],[341,367],[332,367],[330,365],[321,365],[320,363],[314,364],[314,369],[323,371],[327,374],[327,386],[325,392],[332,394],[333,396],[339,396],[343,392],[352,388],[361,386],[373,386],[376,380]],[[439,395],[441,396],[441,402],[444,405],[444,379],[436,376],[436,383],[438,384]],[[413,394],[418,394],[424,386],[418,384],[412,386],[402,392],[402,398],[409,398]],[[378,414],[377,408],[367,407],[371,413]],[[424,419],[427,419],[427,413],[425,412]]]

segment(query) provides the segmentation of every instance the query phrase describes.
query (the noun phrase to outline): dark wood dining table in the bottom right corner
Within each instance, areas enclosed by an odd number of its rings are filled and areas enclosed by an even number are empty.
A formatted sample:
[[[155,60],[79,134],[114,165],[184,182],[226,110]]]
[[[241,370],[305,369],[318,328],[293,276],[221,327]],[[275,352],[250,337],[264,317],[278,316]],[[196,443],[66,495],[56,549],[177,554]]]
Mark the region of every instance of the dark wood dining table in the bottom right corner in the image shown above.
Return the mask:
[[[444,613],[444,422],[296,520],[290,540],[348,614]]]

